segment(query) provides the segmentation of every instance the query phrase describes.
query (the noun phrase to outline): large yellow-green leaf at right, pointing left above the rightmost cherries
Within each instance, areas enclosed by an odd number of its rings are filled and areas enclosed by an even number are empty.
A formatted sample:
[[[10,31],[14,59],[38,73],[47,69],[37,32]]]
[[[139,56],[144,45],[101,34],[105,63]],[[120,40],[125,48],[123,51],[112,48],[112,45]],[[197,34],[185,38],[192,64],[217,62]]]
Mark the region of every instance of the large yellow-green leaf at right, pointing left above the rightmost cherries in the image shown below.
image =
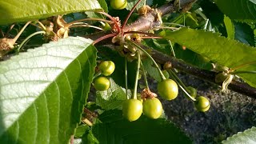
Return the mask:
[[[186,46],[190,50],[218,62],[222,66],[234,68],[248,62],[255,62],[256,49],[241,42],[231,40],[204,30],[182,28],[174,32],[162,33],[164,38]],[[244,66],[239,70],[256,70],[256,65]],[[239,74],[251,86],[256,87],[254,74]]]

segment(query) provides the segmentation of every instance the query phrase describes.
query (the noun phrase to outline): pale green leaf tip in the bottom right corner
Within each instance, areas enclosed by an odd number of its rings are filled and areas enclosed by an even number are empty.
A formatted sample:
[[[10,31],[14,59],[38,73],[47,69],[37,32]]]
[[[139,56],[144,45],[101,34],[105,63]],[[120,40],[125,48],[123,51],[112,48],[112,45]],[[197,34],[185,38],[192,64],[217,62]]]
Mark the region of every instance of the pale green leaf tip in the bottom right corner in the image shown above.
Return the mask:
[[[251,129],[245,130],[243,132],[239,132],[238,134],[234,134],[232,137],[227,138],[226,141],[222,141],[222,143],[224,144],[256,143],[256,127],[253,126]]]

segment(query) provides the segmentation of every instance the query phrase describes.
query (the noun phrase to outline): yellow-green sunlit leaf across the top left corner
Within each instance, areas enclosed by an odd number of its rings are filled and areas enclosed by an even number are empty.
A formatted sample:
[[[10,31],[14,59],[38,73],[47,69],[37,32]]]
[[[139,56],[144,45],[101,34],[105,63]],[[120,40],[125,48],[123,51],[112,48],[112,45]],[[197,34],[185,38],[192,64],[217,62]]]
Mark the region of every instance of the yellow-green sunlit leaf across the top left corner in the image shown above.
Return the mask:
[[[101,9],[97,0],[1,0],[0,25],[96,9]]]

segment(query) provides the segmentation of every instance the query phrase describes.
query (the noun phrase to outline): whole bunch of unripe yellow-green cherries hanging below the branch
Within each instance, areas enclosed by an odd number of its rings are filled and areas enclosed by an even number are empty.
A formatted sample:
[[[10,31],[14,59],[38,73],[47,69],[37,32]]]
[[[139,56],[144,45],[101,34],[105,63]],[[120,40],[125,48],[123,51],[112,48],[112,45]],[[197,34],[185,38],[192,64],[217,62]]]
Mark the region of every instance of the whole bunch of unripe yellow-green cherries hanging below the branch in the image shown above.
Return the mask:
[[[109,76],[114,72],[115,65],[112,61],[103,61],[98,66],[99,75],[94,79],[94,88],[96,90],[108,90],[110,87],[110,80],[105,76]],[[173,100],[178,96],[178,84],[172,79],[164,79],[162,82],[158,82],[158,94],[166,99]],[[146,93],[143,93],[146,91]],[[186,87],[186,91],[190,94],[190,97],[194,99],[194,107],[201,112],[206,112],[210,108],[210,102],[203,96],[197,97],[197,90],[194,87]],[[150,90],[143,90],[142,93],[154,95]],[[128,121],[136,121],[140,116],[145,114],[148,118],[157,119],[162,115],[162,103],[155,96],[149,96],[142,99],[130,98],[122,103],[123,117]]]

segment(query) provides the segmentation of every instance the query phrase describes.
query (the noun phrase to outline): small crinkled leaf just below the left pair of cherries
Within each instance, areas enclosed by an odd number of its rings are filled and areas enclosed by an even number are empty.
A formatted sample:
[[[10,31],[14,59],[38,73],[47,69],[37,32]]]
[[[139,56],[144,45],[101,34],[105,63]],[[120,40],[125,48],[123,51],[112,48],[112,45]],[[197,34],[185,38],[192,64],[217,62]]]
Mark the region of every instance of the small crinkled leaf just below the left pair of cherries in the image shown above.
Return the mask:
[[[110,78],[110,88],[96,92],[96,104],[104,110],[121,109],[122,102],[126,100],[126,93]]]

